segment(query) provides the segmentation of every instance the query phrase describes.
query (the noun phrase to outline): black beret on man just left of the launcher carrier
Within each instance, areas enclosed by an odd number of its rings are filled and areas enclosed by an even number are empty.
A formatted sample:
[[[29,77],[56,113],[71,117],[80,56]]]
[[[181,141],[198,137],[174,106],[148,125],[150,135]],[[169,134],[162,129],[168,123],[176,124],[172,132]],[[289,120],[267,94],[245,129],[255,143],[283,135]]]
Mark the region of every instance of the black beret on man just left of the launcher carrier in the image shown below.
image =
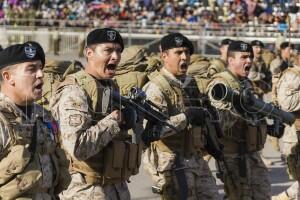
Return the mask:
[[[160,40],[160,47],[162,51],[178,47],[187,47],[190,50],[190,54],[194,53],[192,42],[181,33],[170,33],[164,36]]]

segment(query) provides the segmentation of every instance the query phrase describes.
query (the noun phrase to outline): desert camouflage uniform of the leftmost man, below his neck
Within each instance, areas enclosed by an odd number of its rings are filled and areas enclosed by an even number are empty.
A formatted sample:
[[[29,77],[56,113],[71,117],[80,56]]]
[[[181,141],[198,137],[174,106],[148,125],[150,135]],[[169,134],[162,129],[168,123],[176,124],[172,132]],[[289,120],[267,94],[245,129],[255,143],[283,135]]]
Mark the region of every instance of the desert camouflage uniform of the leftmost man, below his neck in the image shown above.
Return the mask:
[[[54,187],[58,183],[60,172],[55,154],[57,129],[54,128],[57,127],[53,127],[52,123],[49,112],[41,106],[32,104],[32,113],[29,117],[9,97],[0,93],[0,199],[55,199]],[[36,133],[33,130],[35,124]],[[18,172],[19,156],[9,155],[17,146],[25,146],[25,149],[30,152],[28,145],[33,142],[34,134],[36,134],[34,157],[30,158],[25,156],[27,153],[23,153],[20,159],[27,159],[29,162],[24,170]],[[31,156],[31,152],[29,155]],[[9,157],[13,158],[9,159]],[[15,163],[9,164],[11,159]],[[5,180],[7,171],[11,176],[18,174],[18,177],[8,179],[10,182],[7,182]],[[14,180],[16,180],[15,185]]]

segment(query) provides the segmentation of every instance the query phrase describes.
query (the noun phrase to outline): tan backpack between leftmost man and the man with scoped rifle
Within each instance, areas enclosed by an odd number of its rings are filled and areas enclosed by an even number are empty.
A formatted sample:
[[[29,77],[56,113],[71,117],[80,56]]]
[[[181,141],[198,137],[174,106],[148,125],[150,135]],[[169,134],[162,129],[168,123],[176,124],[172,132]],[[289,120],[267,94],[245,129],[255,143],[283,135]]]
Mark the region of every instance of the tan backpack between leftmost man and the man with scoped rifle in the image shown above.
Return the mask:
[[[81,70],[82,64],[79,61],[57,61],[46,59],[43,69],[44,85],[42,98],[37,101],[38,104],[49,110],[49,101],[59,84],[67,75]]]

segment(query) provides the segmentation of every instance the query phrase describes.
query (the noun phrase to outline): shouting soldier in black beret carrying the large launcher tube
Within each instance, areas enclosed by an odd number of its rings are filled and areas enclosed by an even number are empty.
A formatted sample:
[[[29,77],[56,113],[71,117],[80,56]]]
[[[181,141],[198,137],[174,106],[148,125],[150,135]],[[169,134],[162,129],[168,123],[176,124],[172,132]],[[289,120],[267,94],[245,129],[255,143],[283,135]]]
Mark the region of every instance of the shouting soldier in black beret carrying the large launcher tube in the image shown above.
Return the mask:
[[[232,90],[252,90],[247,78],[252,66],[252,48],[248,43],[233,41],[228,47],[227,70],[216,74],[208,85],[212,105],[220,111],[224,137],[224,189],[229,200],[266,200],[271,198],[268,170],[258,152],[266,139],[266,124],[258,116],[247,117],[239,104],[216,101],[211,89],[222,83]],[[253,115],[256,115],[253,113]],[[257,119],[257,120],[255,120]]]

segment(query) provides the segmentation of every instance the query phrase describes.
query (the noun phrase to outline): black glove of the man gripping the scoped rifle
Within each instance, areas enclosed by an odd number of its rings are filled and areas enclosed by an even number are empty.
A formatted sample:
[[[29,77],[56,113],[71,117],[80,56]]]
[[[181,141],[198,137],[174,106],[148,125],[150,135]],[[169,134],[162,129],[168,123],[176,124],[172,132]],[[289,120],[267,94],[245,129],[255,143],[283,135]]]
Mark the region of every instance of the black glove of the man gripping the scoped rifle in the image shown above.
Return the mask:
[[[134,128],[137,123],[137,112],[131,107],[125,107],[121,110],[123,122],[120,125],[120,128],[123,130],[129,130]]]

